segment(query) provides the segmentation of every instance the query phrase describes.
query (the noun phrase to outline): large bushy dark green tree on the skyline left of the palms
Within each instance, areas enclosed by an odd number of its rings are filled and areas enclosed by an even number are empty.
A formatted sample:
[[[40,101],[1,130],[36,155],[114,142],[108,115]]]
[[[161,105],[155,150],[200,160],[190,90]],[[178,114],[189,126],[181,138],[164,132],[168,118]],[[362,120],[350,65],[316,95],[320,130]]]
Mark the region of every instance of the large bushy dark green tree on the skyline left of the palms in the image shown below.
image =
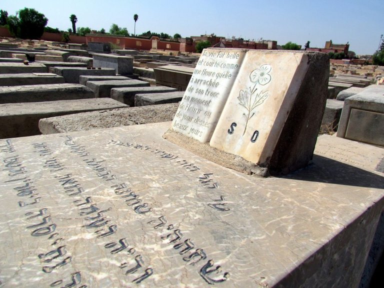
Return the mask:
[[[22,39],[38,39],[44,32],[48,19],[32,8],[18,10],[6,23],[11,34]]]

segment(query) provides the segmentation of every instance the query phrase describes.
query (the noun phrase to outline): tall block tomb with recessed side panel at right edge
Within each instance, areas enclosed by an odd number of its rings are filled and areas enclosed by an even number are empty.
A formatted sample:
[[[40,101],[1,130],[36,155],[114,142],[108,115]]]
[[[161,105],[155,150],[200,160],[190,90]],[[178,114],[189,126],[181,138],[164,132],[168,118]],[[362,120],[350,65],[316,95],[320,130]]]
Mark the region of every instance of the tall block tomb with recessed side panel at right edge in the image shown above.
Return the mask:
[[[344,100],[337,136],[384,146],[384,89],[367,87]]]

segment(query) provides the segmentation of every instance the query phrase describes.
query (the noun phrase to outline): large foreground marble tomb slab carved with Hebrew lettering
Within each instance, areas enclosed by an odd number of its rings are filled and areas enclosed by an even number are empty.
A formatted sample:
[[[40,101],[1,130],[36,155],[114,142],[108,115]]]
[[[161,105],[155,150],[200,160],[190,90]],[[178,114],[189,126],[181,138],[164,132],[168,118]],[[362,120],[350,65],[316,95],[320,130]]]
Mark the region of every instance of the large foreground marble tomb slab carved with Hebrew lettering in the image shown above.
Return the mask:
[[[382,149],[354,166],[327,143],[357,162],[365,145],[328,136],[312,165],[257,178],[163,139],[169,125],[1,140],[2,284],[359,286]]]

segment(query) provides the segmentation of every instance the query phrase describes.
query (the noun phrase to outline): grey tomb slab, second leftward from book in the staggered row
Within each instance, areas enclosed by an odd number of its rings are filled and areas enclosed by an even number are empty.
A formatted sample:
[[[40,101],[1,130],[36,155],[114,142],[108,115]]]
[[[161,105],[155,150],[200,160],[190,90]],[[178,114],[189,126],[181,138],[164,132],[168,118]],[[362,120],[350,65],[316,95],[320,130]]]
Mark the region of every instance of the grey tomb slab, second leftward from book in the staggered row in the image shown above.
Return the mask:
[[[160,93],[160,92],[173,92],[177,91],[175,88],[167,86],[146,86],[146,87],[121,87],[121,88],[112,88],[110,91],[110,97],[114,100],[117,100],[121,103],[127,104],[129,106],[135,106],[135,94],[143,93]]]

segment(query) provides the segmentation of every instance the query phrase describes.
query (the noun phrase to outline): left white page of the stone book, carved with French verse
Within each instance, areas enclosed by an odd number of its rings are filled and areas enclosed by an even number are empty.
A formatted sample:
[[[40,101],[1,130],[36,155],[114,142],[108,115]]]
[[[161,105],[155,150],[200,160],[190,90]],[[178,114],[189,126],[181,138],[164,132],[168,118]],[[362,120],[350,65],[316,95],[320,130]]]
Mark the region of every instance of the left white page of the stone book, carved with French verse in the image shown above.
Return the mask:
[[[209,141],[244,55],[240,49],[203,50],[173,119],[173,130]]]

